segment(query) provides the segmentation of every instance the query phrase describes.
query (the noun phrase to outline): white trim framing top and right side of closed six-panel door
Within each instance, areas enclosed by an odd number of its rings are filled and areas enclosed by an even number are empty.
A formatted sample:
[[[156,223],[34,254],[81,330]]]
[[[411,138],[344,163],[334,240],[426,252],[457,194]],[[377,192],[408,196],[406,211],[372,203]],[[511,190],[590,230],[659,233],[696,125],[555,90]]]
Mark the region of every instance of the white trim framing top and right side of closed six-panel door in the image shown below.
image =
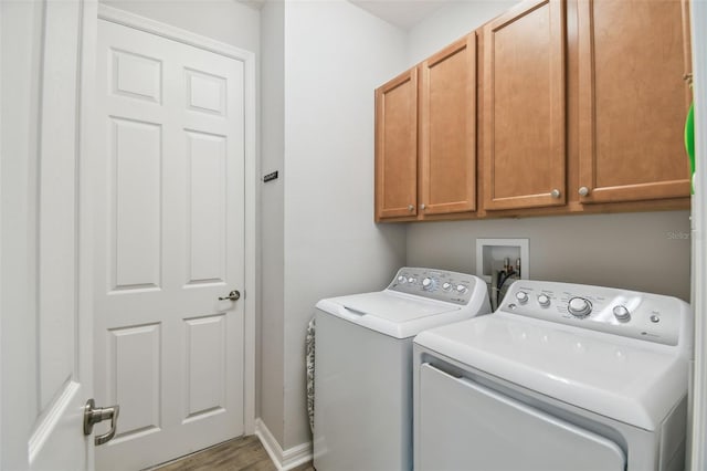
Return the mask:
[[[244,365],[243,365],[243,399],[244,399],[244,432],[255,432],[255,310],[256,310],[256,187],[257,160],[256,156],[256,121],[255,121],[255,54],[225,44],[210,38],[194,34],[169,24],[160,23],[126,11],[98,6],[98,19],[123,24],[136,30],[199,48],[215,54],[234,59],[243,63],[244,67],[244,112],[245,112],[245,332],[244,332]]]

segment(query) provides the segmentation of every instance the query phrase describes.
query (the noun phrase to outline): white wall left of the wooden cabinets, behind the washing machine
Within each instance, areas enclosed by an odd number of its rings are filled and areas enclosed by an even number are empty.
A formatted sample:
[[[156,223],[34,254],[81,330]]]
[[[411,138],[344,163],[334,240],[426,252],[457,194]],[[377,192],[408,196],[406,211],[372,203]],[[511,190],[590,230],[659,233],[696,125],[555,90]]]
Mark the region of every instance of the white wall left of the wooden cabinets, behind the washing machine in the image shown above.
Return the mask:
[[[315,303],[380,290],[404,262],[404,227],[373,223],[373,90],[404,69],[404,40],[345,0],[285,2],[284,449],[310,440]]]

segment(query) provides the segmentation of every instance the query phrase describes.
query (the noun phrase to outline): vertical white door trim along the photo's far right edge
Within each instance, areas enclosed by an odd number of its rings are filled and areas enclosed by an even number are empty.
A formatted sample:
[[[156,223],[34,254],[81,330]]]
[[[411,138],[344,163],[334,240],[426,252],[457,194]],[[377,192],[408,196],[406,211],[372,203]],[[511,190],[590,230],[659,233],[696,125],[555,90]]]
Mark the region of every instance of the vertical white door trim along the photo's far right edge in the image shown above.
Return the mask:
[[[695,369],[693,383],[692,451],[688,468],[707,468],[707,2],[693,1],[693,93],[695,102],[695,196],[693,197],[693,312]]]

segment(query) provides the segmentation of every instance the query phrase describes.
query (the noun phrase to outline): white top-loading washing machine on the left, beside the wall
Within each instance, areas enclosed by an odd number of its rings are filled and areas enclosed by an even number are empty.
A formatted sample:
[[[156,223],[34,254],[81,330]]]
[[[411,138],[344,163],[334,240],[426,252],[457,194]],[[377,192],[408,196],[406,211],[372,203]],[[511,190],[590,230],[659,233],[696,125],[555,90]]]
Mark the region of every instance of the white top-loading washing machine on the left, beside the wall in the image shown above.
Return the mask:
[[[403,268],[380,292],[316,306],[314,465],[412,469],[412,338],[490,312],[486,283]]]

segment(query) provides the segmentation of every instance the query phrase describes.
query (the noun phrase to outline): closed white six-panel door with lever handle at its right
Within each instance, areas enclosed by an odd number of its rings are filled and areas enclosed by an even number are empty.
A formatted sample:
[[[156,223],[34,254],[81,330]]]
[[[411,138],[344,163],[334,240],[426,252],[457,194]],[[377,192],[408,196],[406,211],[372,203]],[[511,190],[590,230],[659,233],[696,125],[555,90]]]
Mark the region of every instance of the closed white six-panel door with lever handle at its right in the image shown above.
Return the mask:
[[[243,63],[98,20],[96,69],[96,460],[139,469],[243,433]]]

